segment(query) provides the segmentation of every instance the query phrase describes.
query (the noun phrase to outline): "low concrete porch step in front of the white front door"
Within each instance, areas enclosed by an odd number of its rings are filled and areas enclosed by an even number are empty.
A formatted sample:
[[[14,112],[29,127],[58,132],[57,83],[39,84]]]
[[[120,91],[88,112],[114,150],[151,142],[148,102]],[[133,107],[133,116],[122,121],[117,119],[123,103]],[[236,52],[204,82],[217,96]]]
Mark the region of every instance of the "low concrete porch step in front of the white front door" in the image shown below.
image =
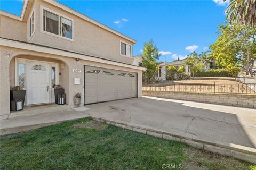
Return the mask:
[[[49,104],[44,106],[25,106],[22,111],[11,112],[8,118],[59,112],[59,111],[65,111],[70,108],[71,108],[70,105],[55,105],[55,104]]]

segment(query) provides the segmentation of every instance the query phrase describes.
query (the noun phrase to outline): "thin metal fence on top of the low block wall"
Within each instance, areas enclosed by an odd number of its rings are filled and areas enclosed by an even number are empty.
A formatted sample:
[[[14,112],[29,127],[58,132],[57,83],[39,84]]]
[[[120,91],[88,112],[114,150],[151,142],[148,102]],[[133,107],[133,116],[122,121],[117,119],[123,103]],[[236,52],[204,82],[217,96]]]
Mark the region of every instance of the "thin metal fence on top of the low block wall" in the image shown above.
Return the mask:
[[[214,94],[256,94],[256,84],[172,84],[143,86],[143,91],[209,92]]]

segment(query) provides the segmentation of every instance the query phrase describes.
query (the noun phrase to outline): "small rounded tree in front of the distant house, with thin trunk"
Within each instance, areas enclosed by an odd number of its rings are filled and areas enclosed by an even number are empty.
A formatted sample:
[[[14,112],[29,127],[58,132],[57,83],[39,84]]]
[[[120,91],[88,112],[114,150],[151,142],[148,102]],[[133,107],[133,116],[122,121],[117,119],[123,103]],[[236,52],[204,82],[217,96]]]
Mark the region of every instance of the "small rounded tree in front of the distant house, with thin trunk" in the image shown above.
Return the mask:
[[[203,69],[202,60],[198,57],[196,52],[189,54],[185,63],[189,66],[190,71],[193,73],[193,78],[195,72]]]

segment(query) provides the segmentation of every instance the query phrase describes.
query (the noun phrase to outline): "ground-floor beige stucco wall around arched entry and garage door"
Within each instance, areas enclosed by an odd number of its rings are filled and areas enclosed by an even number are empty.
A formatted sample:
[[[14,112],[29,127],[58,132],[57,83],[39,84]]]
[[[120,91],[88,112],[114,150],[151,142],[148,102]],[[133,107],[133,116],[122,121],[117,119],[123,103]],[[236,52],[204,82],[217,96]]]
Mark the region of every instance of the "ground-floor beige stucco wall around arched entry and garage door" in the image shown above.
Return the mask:
[[[9,53],[10,56],[7,57],[6,54]],[[52,55],[46,53],[39,53],[33,52],[30,50],[22,50],[17,48],[10,48],[0,46],[0,79],[1,79],[1,89],[0,89],[0,118],[7,118],[7,115],[10,114],[10,85],[14,82],[14,63],[12,60],[13,57],[28,57],[34,58],[39,60],[49,60],[49,61],[56,61],[58,60],[59,65],[59,72],[61,72],[61,76],[59,77],[59,84],[65,88],[67,104],[73,105],[73,97],[76,92],[80,92],[82,94],[82,104],[84,103],[84,72],[83,72],[83,65],[91,65],[91,66],[98,66],[98,67],[106,67],[108,69],[116,69],[116,70],[123,70],[123,71],[130,71],[138,73],[138,97],[142,96],[142,71],[137,69],[130,69],[127,67],[122,66],[115,66],[105,63],[98,63],[86,60],[79,60],[78,62],[75,58],[65,57],[60,55]],[[61,63],[66,63],[66,68],[61,69]],[[10,69],[10,66],[13,67]],[[82,72],[75,73],[72,69],[81,69]],[[73,81],[74,78],[80,78],[81,84],[74,85]],[[7,98],[7,100],[6,100]]]

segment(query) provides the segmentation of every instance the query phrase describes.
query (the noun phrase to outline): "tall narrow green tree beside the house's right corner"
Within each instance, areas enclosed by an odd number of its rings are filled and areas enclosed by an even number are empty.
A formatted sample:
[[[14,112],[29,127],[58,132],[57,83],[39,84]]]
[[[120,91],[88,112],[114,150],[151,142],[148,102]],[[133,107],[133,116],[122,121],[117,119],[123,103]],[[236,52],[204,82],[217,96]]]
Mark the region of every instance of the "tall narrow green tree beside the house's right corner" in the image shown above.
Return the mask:
[[[153,40],[149,40],[144,43],[144,49],[142,53],[142,66],[147,68],[143,72],[143,80],[146,82],[153,82],[155,74],[158,70],[158,63],[156,60],[159,58],[160,54],[158,48],[154,44]]]

